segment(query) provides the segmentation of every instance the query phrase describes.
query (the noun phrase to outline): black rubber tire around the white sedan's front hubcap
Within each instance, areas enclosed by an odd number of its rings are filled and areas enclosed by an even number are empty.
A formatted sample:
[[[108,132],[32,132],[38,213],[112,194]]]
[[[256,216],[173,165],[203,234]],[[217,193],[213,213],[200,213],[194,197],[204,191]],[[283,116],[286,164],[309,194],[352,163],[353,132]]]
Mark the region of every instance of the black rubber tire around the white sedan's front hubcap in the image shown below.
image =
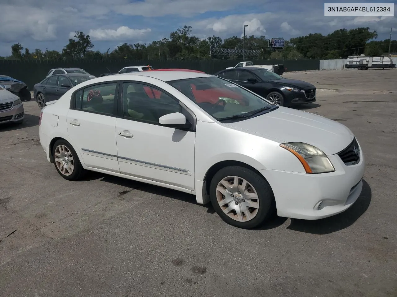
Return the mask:
[[[256,215],[248,221],[242,222],[232,219],[222,210],[221,206],[218,203],[216,188],[218,187],[220,181],[229,176],[237,176],[241,179],[245,179],[249,184],[252,185],[252,187],[256,191],[256,194],[258,195],[258,211]],[[274,214],[275,210],[274,194],[269,183],[262,176],[258,175],[258,173],[252,171],[251,169],[240,166],[228,166],[222,168],[214,175],[210,183],[210,200],[215,211],[227,224],[244,229],[252,229],[258,227],[267,219],[269,219],[272,214]],[[235,203],[236,202],[234,201],[231,202],[231,204]]]

